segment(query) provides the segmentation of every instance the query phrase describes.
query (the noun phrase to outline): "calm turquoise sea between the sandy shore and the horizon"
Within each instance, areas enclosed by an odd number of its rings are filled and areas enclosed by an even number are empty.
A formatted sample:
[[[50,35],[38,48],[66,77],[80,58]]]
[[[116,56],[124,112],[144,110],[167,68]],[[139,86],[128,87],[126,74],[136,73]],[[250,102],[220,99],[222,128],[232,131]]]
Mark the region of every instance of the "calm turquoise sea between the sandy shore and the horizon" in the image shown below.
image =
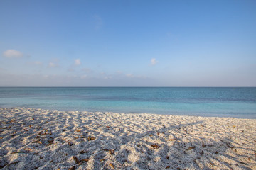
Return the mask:
[[[256,88],[1,87],[0,107],[256,118]]]

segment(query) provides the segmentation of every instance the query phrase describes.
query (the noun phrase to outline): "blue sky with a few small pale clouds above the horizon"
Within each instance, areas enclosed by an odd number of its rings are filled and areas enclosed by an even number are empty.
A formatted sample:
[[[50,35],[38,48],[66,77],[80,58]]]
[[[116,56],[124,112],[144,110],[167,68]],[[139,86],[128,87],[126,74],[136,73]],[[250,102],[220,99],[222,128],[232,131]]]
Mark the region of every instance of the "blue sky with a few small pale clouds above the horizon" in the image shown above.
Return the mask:
[[[256,1],[1,0],[0,86],[256,86]]]

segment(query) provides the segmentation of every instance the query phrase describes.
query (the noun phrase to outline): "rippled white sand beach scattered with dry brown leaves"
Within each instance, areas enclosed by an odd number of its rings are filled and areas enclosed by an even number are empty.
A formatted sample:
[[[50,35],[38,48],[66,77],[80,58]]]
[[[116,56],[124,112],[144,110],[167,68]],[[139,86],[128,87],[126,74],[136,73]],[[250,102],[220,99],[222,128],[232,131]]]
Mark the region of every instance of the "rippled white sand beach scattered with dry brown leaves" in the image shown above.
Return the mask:
[[[0,108],[0,169],[256,169],[256,120]]]

